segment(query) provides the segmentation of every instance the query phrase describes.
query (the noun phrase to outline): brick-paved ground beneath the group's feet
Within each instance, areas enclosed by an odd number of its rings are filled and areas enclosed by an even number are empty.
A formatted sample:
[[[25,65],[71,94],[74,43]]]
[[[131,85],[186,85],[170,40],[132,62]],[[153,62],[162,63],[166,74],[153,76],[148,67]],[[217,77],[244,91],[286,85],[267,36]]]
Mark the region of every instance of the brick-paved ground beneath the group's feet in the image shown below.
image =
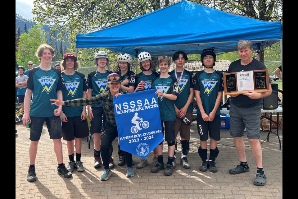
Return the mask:
[[[259,187],[253,184],[256,174],[256,165],[251,153],[248,139],[245,137],[247,161],[250,172],[242,174],[229,174],[229,169],[240,163],[233,138],[229,129],[221,130],[219,141],[219,156],[216,160],[218,172],[201,172],[200,157],[197,153],[199,136],[196,122],[191,128],[191,145],[188,160],[191,169],[184,169],[179,160],[181,152],[176,151],[177,167],[174,174],[165,176],[164,170],[151,173],[153,166],[151,158],[149,164],[143,169],[136,169],[135,176],[126,178],[126,166],[118,166],[117,141],[113,142],[115,168],[108,181],[101,181],[103,168],[93,167],[93,147],[88,149],[86,138],[83,139],[82,161],[86,170],[74,171],[72,178],[63,178],[57,174],[56,156],[52,141],[49,139],[47,128],[44,126],[42,137],[38,144],[36,158],[36,174],[38,180],[27,181],[29,165],[29,129],[16,125],[16,198],[84,198],[84,199],[130,199],[130,198],[237,198],[237,199],[268,199],[282,198],[282,150],[276,135],[270,135],[269,142],[264,141],[268,132],[261,132],[260,142],[263,149],[263,167],[267,182]],[[280,138],[282,140],[282,130]],[[264,141],[264,142],[263,142]],[[68,162],[66,141],[62,140],[64,162]],[[91,141],[93,146],[93,140]],[[180,145],[178,145],[180,150]],[[167,157],[164,145],[164,157]],[[209,151],[208,151],[209,153]],[[149,157],[152,157],[151,154]],[[136,164],[139,157],[133,155]],[[164,158],[166,161],[166,158]]]

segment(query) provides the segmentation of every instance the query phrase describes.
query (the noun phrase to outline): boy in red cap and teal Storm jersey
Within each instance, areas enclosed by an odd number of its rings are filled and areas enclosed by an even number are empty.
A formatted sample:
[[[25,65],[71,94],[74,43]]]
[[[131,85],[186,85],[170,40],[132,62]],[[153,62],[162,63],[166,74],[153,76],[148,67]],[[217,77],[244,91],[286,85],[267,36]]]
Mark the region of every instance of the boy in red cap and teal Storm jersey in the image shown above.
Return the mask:
[[[65,88],[62,89],[63,99],[71,100],[77,98],[86,98],[87,79],[84,74],[77,71],[79,68],[78,58],[72,53],[66,53],[63,56],[61,66],[63,67],[62,77]],[[84,171],[81,161],[82,138],[89,135],[88,122],[86,120],[86,106],[62,107],[62,137],[67,141],[67,150],[69,162],[67,169],[73,172]],[[75,142],[74,142],[75,141]],[[74,160],[74,146],[75,156]]]

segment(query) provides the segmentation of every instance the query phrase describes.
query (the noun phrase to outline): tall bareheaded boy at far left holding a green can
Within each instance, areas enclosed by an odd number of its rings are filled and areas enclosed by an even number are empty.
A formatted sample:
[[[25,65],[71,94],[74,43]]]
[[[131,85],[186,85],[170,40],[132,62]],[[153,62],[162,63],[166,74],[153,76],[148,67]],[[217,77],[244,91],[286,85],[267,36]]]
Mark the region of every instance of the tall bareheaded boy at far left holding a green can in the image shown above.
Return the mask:
[[[63,163],[62,130],[61,119],[59,117],[62,106],[57,108],[48,103],[49,99],[62,99],[61,90],[65,87],[64,82],[61,78],[61,72],[50,65],[51,59],[54,56],[54,49],[52,49],[51,46],[41,44],[35,55],[39,58],[41,64],[29,70],[23,116],[24,126],[28,124],[28,120],[31,123],[29,138],[31,140],[29,147],[30,165],[27,180],[33,182],[37,179],[35,173],[35,159],[44,122],[47,123],[47,130],[54,143],[54,151],[58,162],[58,174],[62,175],[64,178],[70,178],[72,174],[66,169]],[[30,109],[30,98],[32,94],[33,98]]]

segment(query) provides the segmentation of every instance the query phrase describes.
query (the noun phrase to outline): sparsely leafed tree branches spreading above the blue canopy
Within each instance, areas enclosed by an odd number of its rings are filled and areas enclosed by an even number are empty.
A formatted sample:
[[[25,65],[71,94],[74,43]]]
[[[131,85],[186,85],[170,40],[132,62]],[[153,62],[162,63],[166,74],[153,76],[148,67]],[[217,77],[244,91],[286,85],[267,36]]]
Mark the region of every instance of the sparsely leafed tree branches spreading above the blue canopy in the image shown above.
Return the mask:
[[[180,0],[35,0],[32,13],[36,16],[34,20],[38,24],[54,24],[51,31],[62,30],[57,34],[62,40],[67,34],[70,52],[74,53],[77,34],[102,30],[177,2]],[[264,21],[282,21],[282,0],[192,0],[192,2]],[[78,58],[90,64],[97,50],[78,49]]]

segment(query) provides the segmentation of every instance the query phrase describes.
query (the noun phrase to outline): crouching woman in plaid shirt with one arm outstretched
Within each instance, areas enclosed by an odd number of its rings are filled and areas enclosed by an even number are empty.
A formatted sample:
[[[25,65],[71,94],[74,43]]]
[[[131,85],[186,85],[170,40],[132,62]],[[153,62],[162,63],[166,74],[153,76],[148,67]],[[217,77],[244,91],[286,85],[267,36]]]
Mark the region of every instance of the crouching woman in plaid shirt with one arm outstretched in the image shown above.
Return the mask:
[[[90,105],[90,104],[96,104],[96,103],[103,104],[103,109],[106,114],[107,125],[106,125],[105,134],[102,137],[102,142],[100,146],[102,164],[105,167],[101,176],[101,180],[108,180],[112,175],[110,162],[109,162],[109,159],[110,159],[109,149],[111,147],[112,142],[118,136],[117,124],[116,124],[115,113],[114,113],[113,96],[117,98],[119,95],[127,93],[126,90],[120,90],[120,76],[117,73],[111,73],[108,76],[107,85],[110,88],[109,91],[98,94],[90,98],[73,99],[73,100],[67,100],[67,101],[62,101],[61,99],[50,99],[51,101],[54,102],[52,104],[55,104],[57,106],[59,105],[83,106],[83,105]],[[134,172],[133,172],[133,166],[132,166],[132,161],[133,161],[132,154],[126,151],[123,151],[123,152],[124,152],[125,162],[127,165],[126,177],[133,177]]]

